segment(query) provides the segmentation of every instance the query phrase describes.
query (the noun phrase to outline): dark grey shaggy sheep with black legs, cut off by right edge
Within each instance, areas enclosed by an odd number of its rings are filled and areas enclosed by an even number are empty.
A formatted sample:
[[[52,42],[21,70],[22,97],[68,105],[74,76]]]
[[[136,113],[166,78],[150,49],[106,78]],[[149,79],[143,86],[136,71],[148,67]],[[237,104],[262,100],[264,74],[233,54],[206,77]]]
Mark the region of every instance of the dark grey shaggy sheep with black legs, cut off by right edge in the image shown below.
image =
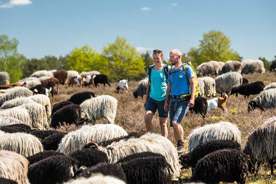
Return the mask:
[[[263,125],[258,126],[250,133],[243,152],[248,155],[248,170],[255,171],[255,163],[258,162],[256,175],[261,163],[270,163],[271,175],[273,175],[274,159],[276,158],[276,117],[269,118]],[[253,166],[253,170],[252,170]]]

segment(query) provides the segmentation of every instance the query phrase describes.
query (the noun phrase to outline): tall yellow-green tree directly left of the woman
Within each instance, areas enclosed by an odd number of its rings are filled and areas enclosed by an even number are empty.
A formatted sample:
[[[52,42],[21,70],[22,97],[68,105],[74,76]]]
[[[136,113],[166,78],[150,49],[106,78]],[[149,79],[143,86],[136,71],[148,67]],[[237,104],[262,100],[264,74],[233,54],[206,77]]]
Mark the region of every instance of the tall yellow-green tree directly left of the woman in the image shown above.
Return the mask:
[[[117,36],[115,43],[103,48],[102,55],[108,59],[112,67],[109,76],[111,81],[139,80],[147,76],[143,58],[125,38]]]

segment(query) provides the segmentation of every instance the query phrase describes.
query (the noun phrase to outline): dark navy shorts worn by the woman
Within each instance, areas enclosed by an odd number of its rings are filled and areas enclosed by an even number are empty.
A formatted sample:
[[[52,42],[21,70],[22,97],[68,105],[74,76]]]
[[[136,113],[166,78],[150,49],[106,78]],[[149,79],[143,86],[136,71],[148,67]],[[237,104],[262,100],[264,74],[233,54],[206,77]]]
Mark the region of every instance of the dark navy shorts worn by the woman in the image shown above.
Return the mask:
[[[165,100],[157,101],[149,97],[145,111],[150,110],[155,114],[156,110],[158,109],[159,117],[168,117],[168,112],[164,110],[164,105]]]

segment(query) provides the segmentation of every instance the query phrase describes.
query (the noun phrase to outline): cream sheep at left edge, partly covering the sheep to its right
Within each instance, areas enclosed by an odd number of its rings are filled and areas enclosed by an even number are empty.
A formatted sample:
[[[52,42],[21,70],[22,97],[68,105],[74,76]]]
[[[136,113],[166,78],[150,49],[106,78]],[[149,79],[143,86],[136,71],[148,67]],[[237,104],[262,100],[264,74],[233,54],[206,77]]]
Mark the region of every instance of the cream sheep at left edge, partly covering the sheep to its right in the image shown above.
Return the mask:
[[[32,126],[31,113],[27,109],[13,107],[11,109],[0,110],[0,116],[12,117],[23,122],[26,125]]]

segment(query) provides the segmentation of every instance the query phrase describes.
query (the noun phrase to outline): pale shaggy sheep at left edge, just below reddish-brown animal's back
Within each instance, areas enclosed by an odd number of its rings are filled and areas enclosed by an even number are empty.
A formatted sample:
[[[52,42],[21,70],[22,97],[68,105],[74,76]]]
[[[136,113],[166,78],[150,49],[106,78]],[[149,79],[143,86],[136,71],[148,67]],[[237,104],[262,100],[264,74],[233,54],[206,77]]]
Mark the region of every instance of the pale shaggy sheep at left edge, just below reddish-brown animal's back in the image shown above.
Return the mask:
[[[2,90],[2,91],[4,91],[5,93],[0,94],[0,105],[2,105],[4,102],[8,100],[12,100],[20,97],[29,97],[33,95],[33,92],[28,88],[18,87],[18,86],[15,86],[10,89]]]

